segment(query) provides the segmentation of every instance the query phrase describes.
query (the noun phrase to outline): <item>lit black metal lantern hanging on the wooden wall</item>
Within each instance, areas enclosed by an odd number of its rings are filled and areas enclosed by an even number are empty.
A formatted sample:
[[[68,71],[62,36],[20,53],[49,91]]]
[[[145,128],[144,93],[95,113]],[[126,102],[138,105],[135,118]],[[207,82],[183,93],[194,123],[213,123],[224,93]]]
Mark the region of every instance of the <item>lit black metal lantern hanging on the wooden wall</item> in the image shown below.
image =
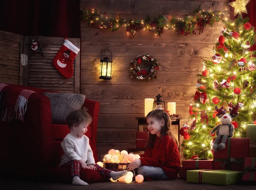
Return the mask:
[[[106,51],[106,50],[108,50],[108,49],[104,49],[102,51]],[[112,79],[111,78],[111,69],[112,69],[112,63],[113,63],[112,52],[108,50],[109,52],[111,52],[111,60],[109,60],[108,57],[105,57],[102,59],[102,51],[100,53],[101,60],[100,60],[100,72],[99,72],[100,77],[99,78],[110,80],[110,79]]]

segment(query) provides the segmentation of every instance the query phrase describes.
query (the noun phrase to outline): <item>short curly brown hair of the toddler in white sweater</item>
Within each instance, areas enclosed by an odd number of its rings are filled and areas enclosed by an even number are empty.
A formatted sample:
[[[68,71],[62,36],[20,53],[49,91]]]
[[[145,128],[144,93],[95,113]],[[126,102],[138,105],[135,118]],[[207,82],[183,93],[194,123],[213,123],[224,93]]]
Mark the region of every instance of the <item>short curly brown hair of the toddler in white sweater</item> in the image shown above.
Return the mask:
[[[87,112],[87,108],[75,110],[67,115],[66,118],[67,125],[70,129],[74,124],[79,125],[84,121],[88,123],[91,123],[93,121],[92,116]]]

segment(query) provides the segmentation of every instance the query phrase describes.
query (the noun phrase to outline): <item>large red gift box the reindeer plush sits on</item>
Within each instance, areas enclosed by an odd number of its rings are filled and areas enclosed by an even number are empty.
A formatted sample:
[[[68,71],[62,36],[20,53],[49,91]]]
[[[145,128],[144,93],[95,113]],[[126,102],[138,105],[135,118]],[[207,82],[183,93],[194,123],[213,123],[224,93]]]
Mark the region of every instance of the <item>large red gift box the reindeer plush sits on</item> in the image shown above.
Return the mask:
[[[227,138],[226,148],[213,153],[213,169],[243,171],[245,157],[249,157],[249,139]]]

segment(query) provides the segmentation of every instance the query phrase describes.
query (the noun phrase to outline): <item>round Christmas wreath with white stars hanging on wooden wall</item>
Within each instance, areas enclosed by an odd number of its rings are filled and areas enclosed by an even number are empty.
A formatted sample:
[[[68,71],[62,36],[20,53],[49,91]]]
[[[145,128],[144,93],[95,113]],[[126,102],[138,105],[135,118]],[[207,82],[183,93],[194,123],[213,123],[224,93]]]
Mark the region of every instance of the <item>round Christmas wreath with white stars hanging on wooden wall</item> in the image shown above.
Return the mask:
[[[138,65],[147,61],[151,64],[150,70],[140,69]],[[159,70],[158,60],[153,58],[149,54],[139,55],[130,62],[130,76],[131,78],[137,78],[142,81],[154,80],[157,78],[157,70]]]

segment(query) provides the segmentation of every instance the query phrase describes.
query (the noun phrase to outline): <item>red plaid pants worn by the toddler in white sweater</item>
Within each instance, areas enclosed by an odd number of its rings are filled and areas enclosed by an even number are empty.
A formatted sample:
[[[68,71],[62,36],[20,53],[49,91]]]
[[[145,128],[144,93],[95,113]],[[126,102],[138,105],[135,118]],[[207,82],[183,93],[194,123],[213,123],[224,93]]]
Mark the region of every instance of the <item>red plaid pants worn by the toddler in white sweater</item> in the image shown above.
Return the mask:
[[[77,161],[77,160],[68,161],[65,164],[63,164],[62,166],[70,166],[72,177],[80,176],[81,165],[80,165],[79,161]],[[112,172],[111,170],[101,167],[98,164],[95,164],[94,166],[96,167],[96,169],[100,173],[100,175],[102,175],[104,177],[109,177],[110,173]]]

